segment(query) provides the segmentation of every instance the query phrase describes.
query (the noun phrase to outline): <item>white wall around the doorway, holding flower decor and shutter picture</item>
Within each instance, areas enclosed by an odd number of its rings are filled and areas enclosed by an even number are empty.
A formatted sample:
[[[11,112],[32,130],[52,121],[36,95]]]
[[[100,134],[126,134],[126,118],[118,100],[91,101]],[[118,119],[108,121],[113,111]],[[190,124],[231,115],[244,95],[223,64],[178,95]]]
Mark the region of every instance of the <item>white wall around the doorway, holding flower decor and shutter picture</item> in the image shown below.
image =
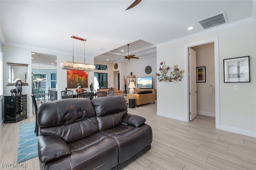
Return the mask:
[[[157,46],[157,63],[184,66],[184,46],[218,38],[219,40],[219,81],[220,81],[220,128],[256,137],[256,22],[251,22],[203,36],[167,42]],[[224,83],[223,59],[250,55],[250,83]],[[158,82],[158,115],[186,121],[184,110],[184,81],[179,83]],[[239,90],[234,90],[239,85]]]

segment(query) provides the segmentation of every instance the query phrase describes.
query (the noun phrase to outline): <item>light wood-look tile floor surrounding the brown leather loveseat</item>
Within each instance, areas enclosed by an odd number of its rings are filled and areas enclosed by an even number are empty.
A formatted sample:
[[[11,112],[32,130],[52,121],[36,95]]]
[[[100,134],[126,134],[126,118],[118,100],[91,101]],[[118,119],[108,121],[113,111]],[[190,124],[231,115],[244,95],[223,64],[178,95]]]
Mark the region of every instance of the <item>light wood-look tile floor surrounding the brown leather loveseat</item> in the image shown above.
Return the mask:
[[[199,115],[183,122],[156,115],[156,104],[128,108],[128,113],[146,118],[152,127],[152,148],[124,170],[256,170],[256,138],[218,130],[215,118]],[[18,125],[3,124],[0,129],[0,169],[39,170],[38,157],[23,162],[26,168],[3,168],[16,163]]]

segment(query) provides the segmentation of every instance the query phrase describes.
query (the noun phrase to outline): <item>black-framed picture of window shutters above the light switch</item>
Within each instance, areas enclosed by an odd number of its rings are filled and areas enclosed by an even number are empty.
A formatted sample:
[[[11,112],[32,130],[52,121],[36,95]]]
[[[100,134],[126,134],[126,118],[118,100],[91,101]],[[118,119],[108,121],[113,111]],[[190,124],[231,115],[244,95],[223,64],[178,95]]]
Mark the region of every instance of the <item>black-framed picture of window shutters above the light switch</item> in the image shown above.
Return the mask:
[[[250,56],[224,59],[224,83],[250,82]]]

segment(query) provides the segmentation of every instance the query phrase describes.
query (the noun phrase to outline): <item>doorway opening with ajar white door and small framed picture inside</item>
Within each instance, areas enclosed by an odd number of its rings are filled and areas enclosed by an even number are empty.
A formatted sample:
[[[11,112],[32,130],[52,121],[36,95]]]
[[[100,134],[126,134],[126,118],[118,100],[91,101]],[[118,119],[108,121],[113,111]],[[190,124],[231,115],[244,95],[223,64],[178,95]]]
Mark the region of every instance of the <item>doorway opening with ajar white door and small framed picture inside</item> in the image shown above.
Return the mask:
[[[214,42],[190,47],[189,63],[194,63],[189,75],[190,121],[197,115],[215,117]]]

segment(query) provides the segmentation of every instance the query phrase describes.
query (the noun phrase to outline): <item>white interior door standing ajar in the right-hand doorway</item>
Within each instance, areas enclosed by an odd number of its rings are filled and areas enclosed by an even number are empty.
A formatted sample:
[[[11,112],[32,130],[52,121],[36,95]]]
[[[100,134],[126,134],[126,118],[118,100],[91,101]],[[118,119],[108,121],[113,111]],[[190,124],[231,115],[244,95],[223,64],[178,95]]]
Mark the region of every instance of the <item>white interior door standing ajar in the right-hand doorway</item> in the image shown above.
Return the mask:
[[[196,51],[189,48],[189,115],[190,121],[197,116],[196,103]]]

